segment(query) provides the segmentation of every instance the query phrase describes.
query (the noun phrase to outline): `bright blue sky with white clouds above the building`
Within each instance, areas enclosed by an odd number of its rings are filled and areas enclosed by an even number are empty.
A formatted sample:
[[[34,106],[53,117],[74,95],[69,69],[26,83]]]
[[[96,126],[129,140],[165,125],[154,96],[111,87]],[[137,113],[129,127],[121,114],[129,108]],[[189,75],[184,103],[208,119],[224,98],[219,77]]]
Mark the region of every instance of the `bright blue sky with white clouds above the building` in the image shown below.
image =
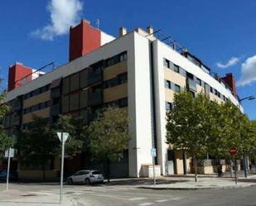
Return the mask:
[[[8,0],[0,2],[0,72],[22,62],[39,69],[68,62],[69,27],[85,18],[113,36],[153,26],[224,76],[233,73],[240,98],[256,95],[256,1]],[[244,100],[256,119],[256,99]]]

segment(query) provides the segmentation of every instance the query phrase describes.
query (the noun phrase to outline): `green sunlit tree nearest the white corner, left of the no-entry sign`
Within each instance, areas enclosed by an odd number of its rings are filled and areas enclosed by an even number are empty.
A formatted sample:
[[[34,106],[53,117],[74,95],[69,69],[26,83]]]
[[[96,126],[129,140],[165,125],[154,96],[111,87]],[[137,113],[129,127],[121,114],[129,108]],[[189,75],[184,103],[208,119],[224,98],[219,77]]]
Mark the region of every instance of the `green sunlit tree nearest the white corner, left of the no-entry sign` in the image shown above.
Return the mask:
[[[183,91],[174,95],[173,104],[173,109],[167,113],[167,143],[174,150],[193,156],[197,181],[197,159],[205,156],[210,138],[210,100],[204,93],[194,98],[189,91]]]

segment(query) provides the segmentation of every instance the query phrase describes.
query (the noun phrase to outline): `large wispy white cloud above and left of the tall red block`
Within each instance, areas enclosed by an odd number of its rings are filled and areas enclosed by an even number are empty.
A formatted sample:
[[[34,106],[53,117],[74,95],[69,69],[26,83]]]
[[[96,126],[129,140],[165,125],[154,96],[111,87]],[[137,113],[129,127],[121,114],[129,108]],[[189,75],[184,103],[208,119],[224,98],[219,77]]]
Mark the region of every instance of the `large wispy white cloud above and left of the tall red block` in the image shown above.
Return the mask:
[[[80,21],[83,2],[80,0],[51,0],[46,9],[51,13],[51,24],[31,32],[31,36],[52,41],[55,36],[65,35],[70,26]]]

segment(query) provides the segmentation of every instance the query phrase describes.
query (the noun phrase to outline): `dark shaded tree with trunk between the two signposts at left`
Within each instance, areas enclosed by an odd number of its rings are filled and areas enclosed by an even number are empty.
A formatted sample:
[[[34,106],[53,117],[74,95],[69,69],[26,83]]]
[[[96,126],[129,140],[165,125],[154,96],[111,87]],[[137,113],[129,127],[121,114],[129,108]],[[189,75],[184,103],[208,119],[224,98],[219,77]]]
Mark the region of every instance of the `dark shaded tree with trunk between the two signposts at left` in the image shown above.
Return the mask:
[[[45,180],[46,163],[59,154],[60,140],[49,126],[47,119],[33,116],[30,130],[22,132],[17,147],[22,163],[40,165]]]

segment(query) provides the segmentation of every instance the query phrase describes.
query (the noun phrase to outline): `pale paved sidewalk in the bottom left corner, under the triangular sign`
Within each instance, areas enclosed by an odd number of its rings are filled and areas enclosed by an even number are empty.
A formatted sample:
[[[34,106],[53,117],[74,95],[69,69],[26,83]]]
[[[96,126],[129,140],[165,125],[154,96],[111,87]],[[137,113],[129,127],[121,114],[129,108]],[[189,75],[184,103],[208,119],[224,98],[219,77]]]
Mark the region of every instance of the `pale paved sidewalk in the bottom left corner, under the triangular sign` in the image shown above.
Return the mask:
[[[26,193],[21,190],[2,190],[0,191],[0,206],[78,206],[76,199],[69,195],[65,195],[62,204],[60,204],[60,196],[58,194],[53,195],[41,195],[39,193]]]

